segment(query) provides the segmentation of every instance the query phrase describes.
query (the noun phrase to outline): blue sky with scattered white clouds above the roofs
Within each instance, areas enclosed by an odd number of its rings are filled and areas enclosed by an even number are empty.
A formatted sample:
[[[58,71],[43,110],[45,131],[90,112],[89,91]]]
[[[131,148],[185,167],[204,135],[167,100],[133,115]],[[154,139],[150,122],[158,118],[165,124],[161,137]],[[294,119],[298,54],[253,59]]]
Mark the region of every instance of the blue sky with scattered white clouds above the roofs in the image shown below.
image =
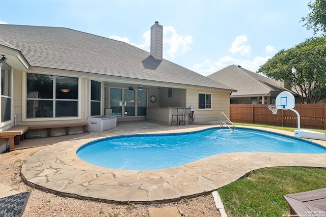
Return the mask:
[[[204,76],[230,65],[256,72],[282,49],[313,37],[310,0],[9,0],[1,24],[67,27],[150,51],[163,26],[163,57]],[[1,37],[1,36],[0,36]]]

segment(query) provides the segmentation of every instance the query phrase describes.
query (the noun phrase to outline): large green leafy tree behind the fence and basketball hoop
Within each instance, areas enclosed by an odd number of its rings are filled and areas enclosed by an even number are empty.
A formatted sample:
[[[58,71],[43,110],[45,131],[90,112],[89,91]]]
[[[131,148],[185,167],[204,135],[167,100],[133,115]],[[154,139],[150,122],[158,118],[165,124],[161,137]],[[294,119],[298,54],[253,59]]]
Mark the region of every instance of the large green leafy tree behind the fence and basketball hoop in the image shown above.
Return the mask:
[[[326,95],[326,38],[310,38],[281,50],[258,73],[287,83],[300,96],[301,103],[319,103]]]

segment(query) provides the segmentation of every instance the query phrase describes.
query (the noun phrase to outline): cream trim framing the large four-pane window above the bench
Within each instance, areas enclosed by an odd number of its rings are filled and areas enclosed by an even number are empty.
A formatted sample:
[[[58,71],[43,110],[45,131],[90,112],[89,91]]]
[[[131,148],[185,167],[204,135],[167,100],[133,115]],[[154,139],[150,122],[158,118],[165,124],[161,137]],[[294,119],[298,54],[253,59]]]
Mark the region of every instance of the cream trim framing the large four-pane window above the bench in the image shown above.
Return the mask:
[[[51,73],[41,73],[41,72],[23,72],[22,73],[22,111],[21,111],[21,121],[55,121],[55,120],[80,120],[81,115],[82,115],[82,78],[78,78],[78,101],[77,101],[77,106],[78,106],[78,111],[77,111],[77,117],[50,117],[50,118],[26,118],[26,95],[27,95],[27,87],[26,87],[26,74],[27,73],[37,73],[37,74],[42,74],[42,75],[56,75],[56,76],[61,76],[61,77],[72,77],[72,76],[67,76],[67,75],[60,75],[60,74],[51,74]],[[53,99],[52,99],[53,100]]]

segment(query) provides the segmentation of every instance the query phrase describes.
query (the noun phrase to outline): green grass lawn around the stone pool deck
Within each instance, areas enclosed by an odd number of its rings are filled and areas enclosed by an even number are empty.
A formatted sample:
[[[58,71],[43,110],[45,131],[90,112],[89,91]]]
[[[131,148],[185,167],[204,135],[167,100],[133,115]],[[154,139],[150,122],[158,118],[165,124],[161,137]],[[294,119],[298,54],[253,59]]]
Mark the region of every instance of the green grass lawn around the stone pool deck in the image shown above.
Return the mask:
[[[255,126],[293,132],[296,128],[251,123]],[[325,130],[310,129],[326,133]],[[218,192],[228,216],[284,216],[289,206],[283,195],[326,188],[326,169],[303,167],[273,167],[253,171],[230,183]]]

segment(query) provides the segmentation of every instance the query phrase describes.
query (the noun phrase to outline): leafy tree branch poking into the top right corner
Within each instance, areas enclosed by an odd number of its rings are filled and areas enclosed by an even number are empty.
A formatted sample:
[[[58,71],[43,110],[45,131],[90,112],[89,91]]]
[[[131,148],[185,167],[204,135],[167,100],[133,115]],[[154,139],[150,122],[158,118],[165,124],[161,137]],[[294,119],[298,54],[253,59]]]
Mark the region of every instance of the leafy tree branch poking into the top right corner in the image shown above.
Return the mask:
[[[323,36],[326,35],[326,1],[325,0],[316,0],[314,3],[310,1],[308,3],[309,9],[311,12],[307,17],[301,19],[302,22],[306,22],[304,26],[307,29],[313,29],[314,35],[319,31],[323,33]]]

